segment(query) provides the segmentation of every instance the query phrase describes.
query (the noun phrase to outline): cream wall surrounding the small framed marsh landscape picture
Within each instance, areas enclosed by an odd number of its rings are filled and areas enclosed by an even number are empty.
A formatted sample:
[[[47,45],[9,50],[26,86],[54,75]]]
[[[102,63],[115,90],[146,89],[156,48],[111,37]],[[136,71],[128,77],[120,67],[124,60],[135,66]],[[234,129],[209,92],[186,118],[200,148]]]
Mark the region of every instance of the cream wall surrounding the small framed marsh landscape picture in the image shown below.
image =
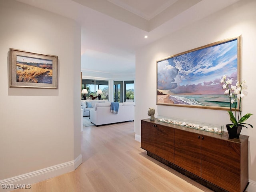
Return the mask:
[[[81,156],[80,36],[73,20],[0,0],[0,183]],[[9,48],[57,55],[58,89],[9,88]]]

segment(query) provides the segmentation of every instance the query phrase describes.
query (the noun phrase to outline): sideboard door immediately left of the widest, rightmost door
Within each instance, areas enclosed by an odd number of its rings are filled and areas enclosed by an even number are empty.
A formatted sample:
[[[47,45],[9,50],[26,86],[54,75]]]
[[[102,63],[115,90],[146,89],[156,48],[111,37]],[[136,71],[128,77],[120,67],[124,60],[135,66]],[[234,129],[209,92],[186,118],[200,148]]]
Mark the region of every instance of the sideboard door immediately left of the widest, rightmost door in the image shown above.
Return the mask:
[[[175,129],[174,164],[201,176],[201,136]]]

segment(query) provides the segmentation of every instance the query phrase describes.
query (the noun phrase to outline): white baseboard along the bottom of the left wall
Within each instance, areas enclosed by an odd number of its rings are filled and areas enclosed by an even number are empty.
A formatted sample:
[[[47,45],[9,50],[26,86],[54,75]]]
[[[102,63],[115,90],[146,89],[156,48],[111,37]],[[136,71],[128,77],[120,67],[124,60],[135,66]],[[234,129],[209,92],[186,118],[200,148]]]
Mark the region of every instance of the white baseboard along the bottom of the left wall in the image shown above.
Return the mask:
[[[17,186],[28,186],[52,177],[62,175],[64,173],[75,170],[82,163],[82,154],[80,154],[75,160],[65,162],[62,164],[54,165],[30,173],[18,175],[12,178],[0,180],[0,191],[7,192],[14,190]],[[9,185],[9,187],[8,187]]]

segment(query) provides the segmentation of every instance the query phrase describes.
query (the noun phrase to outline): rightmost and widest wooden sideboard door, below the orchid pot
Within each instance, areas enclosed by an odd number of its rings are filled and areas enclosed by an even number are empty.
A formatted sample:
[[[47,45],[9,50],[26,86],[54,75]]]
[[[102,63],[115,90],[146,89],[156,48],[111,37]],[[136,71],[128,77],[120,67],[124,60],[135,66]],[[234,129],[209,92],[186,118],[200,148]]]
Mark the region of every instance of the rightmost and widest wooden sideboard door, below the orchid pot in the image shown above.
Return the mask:
[[[230,192],[243,191],[240,152],[240,143],[205,136],[202,140],[202,178]]]

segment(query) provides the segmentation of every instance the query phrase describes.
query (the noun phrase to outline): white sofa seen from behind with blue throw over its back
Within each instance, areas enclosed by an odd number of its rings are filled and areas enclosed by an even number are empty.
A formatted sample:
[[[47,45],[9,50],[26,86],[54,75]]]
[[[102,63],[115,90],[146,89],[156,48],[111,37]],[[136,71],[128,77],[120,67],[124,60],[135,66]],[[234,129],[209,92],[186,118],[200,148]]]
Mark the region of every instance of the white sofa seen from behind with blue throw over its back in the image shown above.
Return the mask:
[[[90,120],[96,126],[134,120],[134,102],[119,103],[118,114],[110,112],[109,103],[96,103],[90,110]]]

